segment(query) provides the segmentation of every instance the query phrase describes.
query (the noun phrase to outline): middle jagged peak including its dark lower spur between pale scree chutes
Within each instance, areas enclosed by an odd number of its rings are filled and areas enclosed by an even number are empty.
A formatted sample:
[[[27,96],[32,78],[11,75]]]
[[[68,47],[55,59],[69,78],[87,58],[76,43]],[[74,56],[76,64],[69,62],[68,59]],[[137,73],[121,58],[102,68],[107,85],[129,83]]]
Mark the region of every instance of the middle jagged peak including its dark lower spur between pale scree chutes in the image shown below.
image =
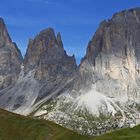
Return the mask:
[[[35,102],[56,91],[60,94],[67,81],[73,79],[76,68],[75,57],[66,54],[60,33],[55,36],[52,28],[30,40],[24,59],[25,75],[35,71],[34,78],[43,83]]]

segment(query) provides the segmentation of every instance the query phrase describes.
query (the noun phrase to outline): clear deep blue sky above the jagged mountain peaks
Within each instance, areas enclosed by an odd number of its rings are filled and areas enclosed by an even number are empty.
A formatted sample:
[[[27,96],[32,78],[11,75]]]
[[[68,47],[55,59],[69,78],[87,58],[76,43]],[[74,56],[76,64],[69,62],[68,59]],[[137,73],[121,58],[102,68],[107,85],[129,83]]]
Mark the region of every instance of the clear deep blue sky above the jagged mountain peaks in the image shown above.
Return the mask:
[[[139,6],[140,0],[1,0],[0,16],[23,55],[29,38],[53,27],[61,32],[67,53],[75,54],[79,63],[102,20]]]

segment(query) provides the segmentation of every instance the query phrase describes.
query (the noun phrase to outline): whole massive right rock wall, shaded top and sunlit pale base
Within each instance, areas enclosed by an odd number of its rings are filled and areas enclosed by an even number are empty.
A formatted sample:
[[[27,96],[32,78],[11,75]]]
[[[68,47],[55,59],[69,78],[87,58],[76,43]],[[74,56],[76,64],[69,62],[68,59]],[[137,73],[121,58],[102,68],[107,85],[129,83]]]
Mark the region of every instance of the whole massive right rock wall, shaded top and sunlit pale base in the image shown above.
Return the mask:
[[[140,8],[122,11],[103,21],[89,42],[81,75],[91,73],[96,90],[109,97],[139,98],[139,37]]]

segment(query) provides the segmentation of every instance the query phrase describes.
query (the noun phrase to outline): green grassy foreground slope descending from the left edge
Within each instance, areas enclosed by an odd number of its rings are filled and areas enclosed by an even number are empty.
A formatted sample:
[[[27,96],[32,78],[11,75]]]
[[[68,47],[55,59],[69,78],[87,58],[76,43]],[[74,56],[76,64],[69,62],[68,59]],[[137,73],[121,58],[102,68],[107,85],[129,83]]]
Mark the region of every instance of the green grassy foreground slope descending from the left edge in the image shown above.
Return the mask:
[[[0,109],[0,140],[86,140],[87,137],[45,120]]]

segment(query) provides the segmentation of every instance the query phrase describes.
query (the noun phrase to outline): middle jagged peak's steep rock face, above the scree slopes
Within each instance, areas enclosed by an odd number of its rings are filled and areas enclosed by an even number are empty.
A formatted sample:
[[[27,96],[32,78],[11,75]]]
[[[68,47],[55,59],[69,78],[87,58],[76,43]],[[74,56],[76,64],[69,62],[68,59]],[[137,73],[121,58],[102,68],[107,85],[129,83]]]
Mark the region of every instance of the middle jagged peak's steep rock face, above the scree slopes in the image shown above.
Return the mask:
[[[76,62],[74,56],[66,54],[60,33],[56,37],[54,30],[48,28],[29,41],[24,66],[26,73],[35,68],[35,77],[45,80],[51,76],[72,76]]]

